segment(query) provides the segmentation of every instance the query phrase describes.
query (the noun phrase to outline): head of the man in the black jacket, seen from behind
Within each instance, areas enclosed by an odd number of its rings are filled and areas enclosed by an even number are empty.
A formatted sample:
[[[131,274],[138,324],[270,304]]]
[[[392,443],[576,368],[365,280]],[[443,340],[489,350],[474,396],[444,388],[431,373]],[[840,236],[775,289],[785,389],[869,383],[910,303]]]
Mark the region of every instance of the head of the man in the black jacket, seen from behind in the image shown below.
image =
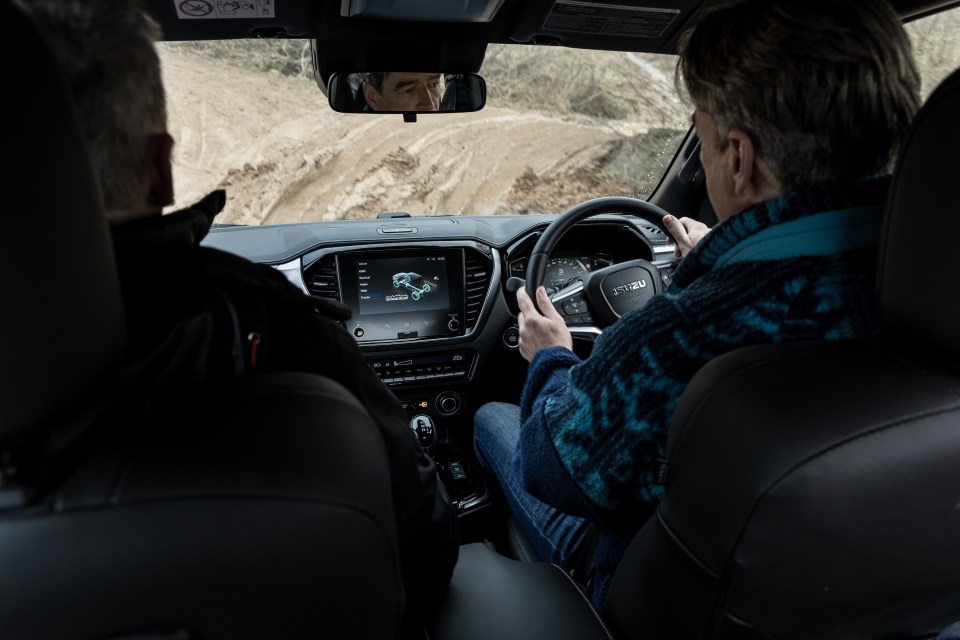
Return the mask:
[[[137,0],[17,0],[70,89],[108,218],[133,201],[153,134],[166,133],[160,28]]]

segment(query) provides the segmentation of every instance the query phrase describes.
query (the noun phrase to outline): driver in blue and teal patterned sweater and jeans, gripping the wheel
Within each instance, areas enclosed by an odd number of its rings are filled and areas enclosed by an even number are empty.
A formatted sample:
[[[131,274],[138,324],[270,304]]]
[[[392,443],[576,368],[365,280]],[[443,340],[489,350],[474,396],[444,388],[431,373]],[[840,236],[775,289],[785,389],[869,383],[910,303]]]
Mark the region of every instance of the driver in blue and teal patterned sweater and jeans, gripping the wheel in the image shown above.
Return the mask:
[[[691,227],[686,243],[699,242],[668,292],[586,359],[544,288],[536,307],[521,289],[520,406],[475,416],[481,464],[541,559],[573,570],[596,549],[598,606],[663,496],[658,460],[700,367],[751,344],[877,335],[888,171],[919,105],[910,43],[884,0],[746,0],[705,15],[679,53],[719,223]]]

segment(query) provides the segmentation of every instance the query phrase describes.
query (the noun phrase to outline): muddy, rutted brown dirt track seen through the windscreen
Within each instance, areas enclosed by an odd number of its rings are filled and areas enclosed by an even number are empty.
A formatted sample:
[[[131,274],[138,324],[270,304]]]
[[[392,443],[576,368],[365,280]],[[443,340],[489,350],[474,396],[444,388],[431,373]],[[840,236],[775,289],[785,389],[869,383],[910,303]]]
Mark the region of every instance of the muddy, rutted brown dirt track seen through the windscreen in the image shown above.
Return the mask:
[[[345,115],[310,80],[162,57],[177,205],[225,187],[218,222],[560,212],[595,196],[635,195],[596,170],[622,137],[610,128],[492,107],[416,124]]]

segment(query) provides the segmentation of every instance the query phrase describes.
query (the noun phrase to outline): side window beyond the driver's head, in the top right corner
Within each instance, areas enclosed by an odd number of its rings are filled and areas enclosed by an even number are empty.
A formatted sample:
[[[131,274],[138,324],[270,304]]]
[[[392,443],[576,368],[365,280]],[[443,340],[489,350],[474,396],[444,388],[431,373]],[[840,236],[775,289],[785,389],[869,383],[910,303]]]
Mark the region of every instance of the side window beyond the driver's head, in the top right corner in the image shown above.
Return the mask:
[[[960,7],[914,20],[906,25],[920,69],[923,100],[950,73],[960,69]]]

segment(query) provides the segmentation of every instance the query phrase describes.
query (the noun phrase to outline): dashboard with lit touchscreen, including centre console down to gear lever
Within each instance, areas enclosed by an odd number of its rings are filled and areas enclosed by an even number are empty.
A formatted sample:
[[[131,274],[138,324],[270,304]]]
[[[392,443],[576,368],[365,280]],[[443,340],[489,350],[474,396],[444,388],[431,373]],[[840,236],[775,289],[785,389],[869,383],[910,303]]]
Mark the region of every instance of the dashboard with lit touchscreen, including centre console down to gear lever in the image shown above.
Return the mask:
[[[304,292],[339,300],[371,369],[437,451],[462,512],[484,502],[463,471],[472,418],[492,400],[517,402],[526,377],[511,277],[527,265],[550,215],[407,217],[260,227],[215,226],[206,246],[273,266]],[[655,225],[594,216],[558,242],[544,284],[558,289],[606,266],[642,258],[669,278],[677,258]],[[570,318],[575,351],[600,330]],[[424,426],[426,425],[426,426]],[[434,435],[435,434],[435,435]],[[423,436],[426,437],[426,436]],[[462,472],[462,473],[461,473]]]

